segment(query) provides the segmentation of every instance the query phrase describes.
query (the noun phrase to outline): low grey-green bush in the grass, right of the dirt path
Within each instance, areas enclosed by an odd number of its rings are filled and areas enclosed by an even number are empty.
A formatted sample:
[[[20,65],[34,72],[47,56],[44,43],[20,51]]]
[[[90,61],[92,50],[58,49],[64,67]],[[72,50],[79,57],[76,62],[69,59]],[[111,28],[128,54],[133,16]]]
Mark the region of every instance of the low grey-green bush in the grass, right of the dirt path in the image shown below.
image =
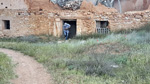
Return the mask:
[[[110,75],[113,76],[113,67],[115,64],[109,60],[106,54],[92,54],[88,59],[79,61],[68,61],[67,67],[69,70],[76,69],[84,72],[86,75]]]

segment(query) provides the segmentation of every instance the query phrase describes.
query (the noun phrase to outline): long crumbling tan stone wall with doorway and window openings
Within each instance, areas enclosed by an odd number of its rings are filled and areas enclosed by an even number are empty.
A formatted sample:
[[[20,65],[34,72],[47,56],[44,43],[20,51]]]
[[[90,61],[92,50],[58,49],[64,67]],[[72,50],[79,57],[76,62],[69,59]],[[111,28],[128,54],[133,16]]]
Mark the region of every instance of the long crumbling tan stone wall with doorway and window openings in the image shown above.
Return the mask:
[[[106,10],[97,10],[99,8]],[[10,30],[3,28],[3,20],[10,20]],[[111,31],[138,28],[150,21],[150,10],[120,14],[114,9],[102,5],[94,6],[87,2],[83,2],[81,8],[76,11],[60,9],[54,11],[44,8],[30,11],[0,9],[0,37],[32,34],[61,36],[63,20],[76,20],[76,35],[84,35],[96,33],[96,21],[108,21]]]

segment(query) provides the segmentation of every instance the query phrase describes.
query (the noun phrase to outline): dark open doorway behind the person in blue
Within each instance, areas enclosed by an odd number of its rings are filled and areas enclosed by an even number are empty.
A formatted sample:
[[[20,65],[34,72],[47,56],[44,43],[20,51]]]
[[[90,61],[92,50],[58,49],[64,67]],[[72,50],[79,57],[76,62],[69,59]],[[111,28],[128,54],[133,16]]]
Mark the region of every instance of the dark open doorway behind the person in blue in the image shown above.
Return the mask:
[[[76,35],[76,20],[64,20],[63,24],[65,22],[71,25],[69,29],[69,38],[73,38]]]

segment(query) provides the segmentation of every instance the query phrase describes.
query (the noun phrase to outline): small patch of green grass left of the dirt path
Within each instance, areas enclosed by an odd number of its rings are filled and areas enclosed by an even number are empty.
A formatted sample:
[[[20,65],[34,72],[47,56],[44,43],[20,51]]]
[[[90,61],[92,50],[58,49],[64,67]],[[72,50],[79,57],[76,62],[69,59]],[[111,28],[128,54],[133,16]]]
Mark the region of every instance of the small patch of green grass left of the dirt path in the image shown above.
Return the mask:
[[[11,60],[0,53],[0,84],[9,84],[9,80],[14,78],[13,67]]]

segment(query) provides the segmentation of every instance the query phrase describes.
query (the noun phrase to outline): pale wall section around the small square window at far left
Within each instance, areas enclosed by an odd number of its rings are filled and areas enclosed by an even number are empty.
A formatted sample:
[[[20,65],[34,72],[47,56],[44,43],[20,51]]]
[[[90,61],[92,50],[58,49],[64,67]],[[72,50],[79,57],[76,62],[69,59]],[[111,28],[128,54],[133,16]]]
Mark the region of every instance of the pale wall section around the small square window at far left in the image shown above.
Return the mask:
[[[20,10],[0,10],[0,36],[22,36],[27,35],[29,19],[27,16],[18,15],[18,12],[25,12]],[[4,29],[4,20],[10,21],[10,29]]]

